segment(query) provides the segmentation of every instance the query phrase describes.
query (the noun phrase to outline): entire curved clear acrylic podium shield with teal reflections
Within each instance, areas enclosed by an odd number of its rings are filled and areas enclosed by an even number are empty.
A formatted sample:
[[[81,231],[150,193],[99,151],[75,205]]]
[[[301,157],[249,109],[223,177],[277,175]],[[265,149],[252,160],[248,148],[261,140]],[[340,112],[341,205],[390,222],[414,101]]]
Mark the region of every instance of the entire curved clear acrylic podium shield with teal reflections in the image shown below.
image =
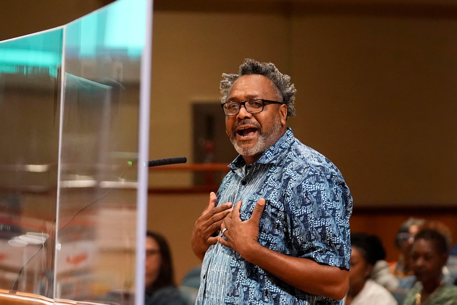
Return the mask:
[[[118,0],[0,42],[0,303],[143,304],[151,20]]]

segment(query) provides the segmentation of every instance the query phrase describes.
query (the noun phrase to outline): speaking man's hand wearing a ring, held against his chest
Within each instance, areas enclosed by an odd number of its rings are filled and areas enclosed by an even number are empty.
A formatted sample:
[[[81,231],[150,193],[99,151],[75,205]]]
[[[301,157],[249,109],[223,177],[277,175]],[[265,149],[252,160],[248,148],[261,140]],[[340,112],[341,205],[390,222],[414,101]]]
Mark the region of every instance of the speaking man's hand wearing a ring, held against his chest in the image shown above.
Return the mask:
[[[248,220],[241,221],[239,209],[241,201],[237,202],[233,211],[223,220],[221,225],[222,236],[218,237],[218,242],[226,247],[234,249],[244,259],[249,261],[256,246],[259,245],[259,220],[265,207],[265,199],[260,198],[255,204],[254,211]],[[225,230],[226,229],[226,230]]]

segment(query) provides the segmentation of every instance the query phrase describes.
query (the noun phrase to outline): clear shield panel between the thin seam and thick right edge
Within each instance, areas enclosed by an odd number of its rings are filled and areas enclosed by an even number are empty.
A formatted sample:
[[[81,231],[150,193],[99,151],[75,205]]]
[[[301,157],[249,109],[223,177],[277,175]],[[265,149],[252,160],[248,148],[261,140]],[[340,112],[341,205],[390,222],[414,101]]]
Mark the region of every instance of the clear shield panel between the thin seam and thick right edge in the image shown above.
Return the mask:
[[[65,27],[55,297],[133,304],[146,1]]]

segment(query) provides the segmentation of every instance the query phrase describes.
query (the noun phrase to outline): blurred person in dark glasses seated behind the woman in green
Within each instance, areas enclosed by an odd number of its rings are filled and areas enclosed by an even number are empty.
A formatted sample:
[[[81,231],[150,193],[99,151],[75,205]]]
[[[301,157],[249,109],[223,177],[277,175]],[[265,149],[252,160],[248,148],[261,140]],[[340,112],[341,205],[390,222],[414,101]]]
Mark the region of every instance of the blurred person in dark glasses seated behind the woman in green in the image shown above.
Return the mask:
[[[424,224],[424,219],[410,217],[400,226],[395,237],[395,246],[400,250],[399,259],[390,264],[390,272],[396,277],[402,278],[413,274],[413,270],[409,266],[409,254],[411,253],[414,235],[419,232]]]

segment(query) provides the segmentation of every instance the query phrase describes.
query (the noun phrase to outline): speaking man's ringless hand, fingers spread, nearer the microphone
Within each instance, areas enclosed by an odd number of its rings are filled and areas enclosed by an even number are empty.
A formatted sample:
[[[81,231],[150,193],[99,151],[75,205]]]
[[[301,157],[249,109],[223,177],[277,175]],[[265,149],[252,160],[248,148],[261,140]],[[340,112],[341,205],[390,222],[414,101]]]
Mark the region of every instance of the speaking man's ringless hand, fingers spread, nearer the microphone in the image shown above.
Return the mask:
[[[203,211],[202,216],[195,222],[194,231],[192,232],[192,250],[202,261],[209,246],[218,242],[218,237],[213,237],[213,233],[221,228],[223,219],[232,211],[231,202],[216,207],[217,201],[216,194],[211,192],[208,206]]]

